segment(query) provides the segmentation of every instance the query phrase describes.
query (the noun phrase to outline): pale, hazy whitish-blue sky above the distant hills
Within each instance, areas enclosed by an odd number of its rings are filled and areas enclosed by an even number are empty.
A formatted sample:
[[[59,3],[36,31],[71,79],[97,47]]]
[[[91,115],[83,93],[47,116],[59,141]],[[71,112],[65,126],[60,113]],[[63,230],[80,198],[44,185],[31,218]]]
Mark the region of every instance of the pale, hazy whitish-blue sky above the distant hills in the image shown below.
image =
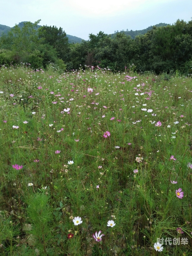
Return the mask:
[[[88,40],[89,33],[141,30],[177,19],[191,20],[192,0],[0,0],[0,24],[22,21],[62,27]]]

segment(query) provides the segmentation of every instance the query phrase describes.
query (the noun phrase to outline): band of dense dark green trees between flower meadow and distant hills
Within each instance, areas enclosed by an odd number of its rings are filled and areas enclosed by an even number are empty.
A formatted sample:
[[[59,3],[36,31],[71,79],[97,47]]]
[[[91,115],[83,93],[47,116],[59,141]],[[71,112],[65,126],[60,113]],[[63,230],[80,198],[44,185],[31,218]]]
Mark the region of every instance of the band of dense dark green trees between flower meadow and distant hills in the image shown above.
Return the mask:
[[[61,70],[79,66],[99,66],[122,71],[134,64],[138,72],[152,71],[189,73],[192,66],[192,20],[177,20],[166,27],[154,26],[134,39],[125,33],[115,36],[99,32],[89,40],[70,44],[63,28],[26,22],[15,25],[0,38],[0,65],[30,63],[47,68],[50,63]]]

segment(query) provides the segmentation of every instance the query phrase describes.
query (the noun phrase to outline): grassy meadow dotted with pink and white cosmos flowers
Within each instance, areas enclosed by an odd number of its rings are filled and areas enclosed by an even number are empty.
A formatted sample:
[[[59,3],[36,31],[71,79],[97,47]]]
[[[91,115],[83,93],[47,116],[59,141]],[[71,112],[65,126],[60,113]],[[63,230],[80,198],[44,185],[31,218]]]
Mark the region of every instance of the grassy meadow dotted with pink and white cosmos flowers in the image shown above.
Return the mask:
[[[0,255],[192,255],[192,78],[0,68]]]

